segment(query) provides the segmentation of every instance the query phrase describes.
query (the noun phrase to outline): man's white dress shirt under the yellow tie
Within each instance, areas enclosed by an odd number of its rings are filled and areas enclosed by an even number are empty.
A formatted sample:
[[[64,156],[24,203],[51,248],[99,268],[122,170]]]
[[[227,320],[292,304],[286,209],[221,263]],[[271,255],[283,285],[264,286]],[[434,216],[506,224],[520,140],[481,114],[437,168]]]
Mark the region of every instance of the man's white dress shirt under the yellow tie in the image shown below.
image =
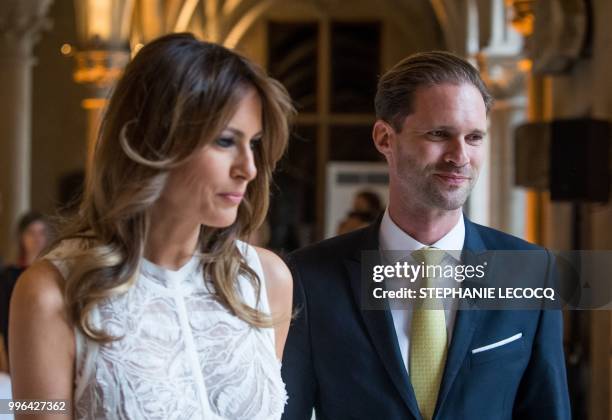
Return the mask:
[[[389,216],[389,209],[385,211],[383,219],[380,223],[379,231],[379,246],[381,251],[416,251],[417,249],[423,248],[424,244],[420,243],[395,224]],[[457,224],[439,241],[432,244],[431,246],[445,251],[463,249],[463,242],[465,240],[465,222],[463,220],[463,213],[459,217]],[[459,254],[459,253],[457,253]],[[457,255],[455,254],[455,256]],[[455,261],[450,259],[450,264]],[[455,261],[456,262],[456,261]],[[457,314],[457,302],[453,302],[449,307],[445,309],[446,312],[446,332],[448,337],[448,343],[450,345],[453,326],[455,324],[455,316]],[[399,348],[402,353],[402,360],[406,366],[406,370],[409,371],[408,358],[410,356],[410,326],[412,324],[412,308],[407,309],[391,309],[391,315],[393,316],[393,324],[395,326],[395,334],[398,339]]]

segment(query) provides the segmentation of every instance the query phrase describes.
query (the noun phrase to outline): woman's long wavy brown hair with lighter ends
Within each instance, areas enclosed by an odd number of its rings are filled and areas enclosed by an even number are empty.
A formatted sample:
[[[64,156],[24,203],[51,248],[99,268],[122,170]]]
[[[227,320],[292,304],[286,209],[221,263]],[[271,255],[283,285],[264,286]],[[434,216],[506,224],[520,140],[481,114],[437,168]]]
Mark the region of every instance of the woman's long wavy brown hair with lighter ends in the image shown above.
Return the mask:
[[[114,338],[92,325],[91,310],[136,280],[149,209],[169,171],[221,134],[249,87],[259,94],[263,110],[263,138],[254,152],[257,176],[231,226],[201,227],[199,252],[204,277],[220,302],[253,326],[273,324],[241,300],[239,275],[249,278],[258,296],[261,281],[236,240],[265,218],[272,171],[287,146],[294,112],[290,98],[282,85],[237,53],[191,34],[172,34],[144,46],[115,87],[80,211],[64,223],[56,241],[57,246],[78,239],[79,247],[66,256],[65,301],[72,321],[91,339]]]

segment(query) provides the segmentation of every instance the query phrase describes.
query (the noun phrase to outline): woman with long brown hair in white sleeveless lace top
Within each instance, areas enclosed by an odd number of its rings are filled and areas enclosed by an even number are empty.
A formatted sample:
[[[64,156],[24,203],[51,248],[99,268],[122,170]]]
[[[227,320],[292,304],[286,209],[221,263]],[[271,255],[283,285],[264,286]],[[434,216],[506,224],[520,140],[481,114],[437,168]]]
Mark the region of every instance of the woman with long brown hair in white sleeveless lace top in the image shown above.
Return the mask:
[[[174,34],[140,50],[79,216],[16,287],[15,398],[70,399],[75,418],[280,417],[292,279],[238,238],[265,216],[291,113],[223,47]]]

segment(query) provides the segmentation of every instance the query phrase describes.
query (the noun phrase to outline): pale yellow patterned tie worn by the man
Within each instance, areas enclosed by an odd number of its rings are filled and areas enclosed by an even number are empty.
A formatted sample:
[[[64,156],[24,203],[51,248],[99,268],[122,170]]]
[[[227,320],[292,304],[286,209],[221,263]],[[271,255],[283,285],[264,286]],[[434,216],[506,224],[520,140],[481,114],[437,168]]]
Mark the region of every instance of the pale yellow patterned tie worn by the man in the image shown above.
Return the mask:
[[[443,251],[424,247],[412,253],[417,263],[436,266]],[[426,267],[425,267],[426,268]],[[433,279],[425,277],[424,287],[434,287]],[[446,319],[440,302],[422,302],[415,308],[410,328],[410,379],[423,419],[433,417],[444,364],[446,363]],[[431,309],[431,308],[439,309]]]

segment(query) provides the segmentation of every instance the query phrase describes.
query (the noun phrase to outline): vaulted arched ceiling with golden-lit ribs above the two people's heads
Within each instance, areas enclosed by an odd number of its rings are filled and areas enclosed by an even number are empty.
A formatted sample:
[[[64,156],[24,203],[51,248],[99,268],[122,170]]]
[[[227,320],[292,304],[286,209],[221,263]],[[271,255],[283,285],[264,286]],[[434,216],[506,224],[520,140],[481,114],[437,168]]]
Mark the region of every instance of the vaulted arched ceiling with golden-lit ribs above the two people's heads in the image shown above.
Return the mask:
[[[469,0],[385,0],[368,1],[377,12],[386,10],[386,17],[405,32],[411,32],[418,22],[432,21],[443,34],[447,49],[462,52],[461,36],[465,32],[465,5]],[[132,45],[146,43],[169,32],[190,30],[203,38],[236,46],[249,29],[265,14],[294,3],[308,4],[325,13],[342,10],[357,0],[137,0],[134,8]],[[365,4],[365,3],[364,3]]]

